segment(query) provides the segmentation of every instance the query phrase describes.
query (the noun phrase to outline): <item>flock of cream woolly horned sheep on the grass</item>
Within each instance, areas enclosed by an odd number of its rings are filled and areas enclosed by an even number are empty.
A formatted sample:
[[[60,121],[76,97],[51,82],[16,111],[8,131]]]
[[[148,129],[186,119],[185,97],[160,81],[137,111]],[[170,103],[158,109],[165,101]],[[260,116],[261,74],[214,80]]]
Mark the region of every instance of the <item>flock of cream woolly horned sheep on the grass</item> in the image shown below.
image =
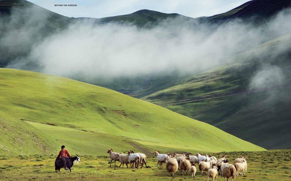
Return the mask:
[[[143,165],[147,167],[146,155],[143,153],[134,153],[134,151],[127,151],[127,154],[123,153],[115,153],[112,149],[108,149],[107,153],[110,154],[110,166],[111,162],[114,160],[115,166],[116,161],[120,162],[120,166],[124,166],[126,164],[127,168],[128,164],[130,164],[130,168],[143,168]],[[126,152],[124,152],[126,153]],[[247,157],[240,156],[235,159],[234,164],[231,164],[227,160],[227,156],[223,155],[221,158],[216,159],[211,155],[203,155],[202,153],[197,153],[196,155],[191,156],[190,153],[180,154],[172,153],[161,154],[160,152],[154,152],[154,155],[157,156],[157,166],[160,169],[164,168],[163,163],[166,163],[166,170],[170,173],[170,176],[174,176],[174,173],[181,171],[181,175],[183,173],[185,175],[188,172],[191,172],[192,177],[195,177],[196,173],[196,164],[198,164],[201,175],[203,175],[203,171],[206,171],[207,180],[211,178],[217,180],[218,175],[224,177],[224,180],[232,177],[232,180],[235,179],[235,176],[245,175],[245,171],[247,170]],[[119,166],[119,167],[120,167]]]

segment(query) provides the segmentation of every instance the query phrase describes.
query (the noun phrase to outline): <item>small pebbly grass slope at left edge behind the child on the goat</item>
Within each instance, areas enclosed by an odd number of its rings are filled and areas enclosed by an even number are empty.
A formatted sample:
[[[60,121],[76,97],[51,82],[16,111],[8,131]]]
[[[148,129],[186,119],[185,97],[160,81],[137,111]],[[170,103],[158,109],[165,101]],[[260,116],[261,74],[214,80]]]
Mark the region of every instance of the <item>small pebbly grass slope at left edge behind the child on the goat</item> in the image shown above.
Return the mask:
[[[2,84],[0,85],[2,86]],[[4,106],[1,104],[1,106]],[[0,111],[0,155],[51,154],[60,144],[26,122]]]

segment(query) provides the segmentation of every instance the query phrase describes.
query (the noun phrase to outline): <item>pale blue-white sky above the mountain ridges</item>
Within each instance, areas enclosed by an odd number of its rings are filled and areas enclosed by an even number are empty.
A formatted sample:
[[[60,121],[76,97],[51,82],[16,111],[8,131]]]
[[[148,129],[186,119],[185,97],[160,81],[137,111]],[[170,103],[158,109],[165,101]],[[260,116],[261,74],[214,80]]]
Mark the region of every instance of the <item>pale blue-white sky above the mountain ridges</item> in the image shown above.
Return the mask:
[[[178,13],[192,18],[227,12],[248,0],[29,0],[68,17],[103,18],[124,15],[140,9]],[[77,6],[55,6],[76,4]]]

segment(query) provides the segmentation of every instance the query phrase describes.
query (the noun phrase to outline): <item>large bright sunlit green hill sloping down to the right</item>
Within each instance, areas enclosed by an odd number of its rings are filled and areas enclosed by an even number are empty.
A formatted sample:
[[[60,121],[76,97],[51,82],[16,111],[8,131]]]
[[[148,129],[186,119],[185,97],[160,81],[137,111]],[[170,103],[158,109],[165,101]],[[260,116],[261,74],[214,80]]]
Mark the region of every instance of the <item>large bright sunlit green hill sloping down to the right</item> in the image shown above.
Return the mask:
[[[204,122],[110,89],[15,69],[0,69],[0,77],[0,111],[15,119],[42,123],[31,125],[44,135],[70,145],[74,152],[104,155],[108,147],[127,149],[127,144],[137,144],[134,146],[149,152],[156,149],[263,150]],[[46,124],[55,126],[45,127]],[[73,129],[79,132],[74,133]],[[64,135],[74,135],[76,139],[62,138]],[[84,140],[81,135],[90,139]],[[118,136],[120,141],[112,144],[113,139],[107,138],[110,135]],[[121,143],[123,140],[125,142]],[[100,149],[94,149],[96,144],[100,144]],[[124,147],[118,146],[120,144]],[[88,145],[91,146],[87,150]]]

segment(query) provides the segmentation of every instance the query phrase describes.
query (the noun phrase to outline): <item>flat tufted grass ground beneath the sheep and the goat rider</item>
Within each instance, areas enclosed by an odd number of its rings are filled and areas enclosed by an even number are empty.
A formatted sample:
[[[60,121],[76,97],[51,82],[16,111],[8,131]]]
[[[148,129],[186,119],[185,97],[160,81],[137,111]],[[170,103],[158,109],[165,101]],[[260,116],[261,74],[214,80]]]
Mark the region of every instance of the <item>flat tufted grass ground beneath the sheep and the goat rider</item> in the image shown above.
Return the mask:
[[[290,149],[211,153],[212,156],[216,157],[227,155],[229,156],[228,160],[232,163],[238,156],[247,156],[248,169],[245,171],[245,176],[237,176],[235,180],[257,181],[290,180],[290,154]],[[0,156],[0,180],[207,180],[205,175],[201,175],[197,165],[194,179],[190,172],[186,176],[181,176],[180,171],[176,172],[172,178],[165,168],[157,168],[156,157],[147,157],[149,168],[132,170],[126,167],[114,167],[114,165],[109,167],[109,156],[80,156],[81,161],[79,164],[74,164],[72,173],[64,169],[60,173],[55,173],[53,165],[55,157],[43,155]],[[224,180],[224,178],[218,176],[218,180]]]

